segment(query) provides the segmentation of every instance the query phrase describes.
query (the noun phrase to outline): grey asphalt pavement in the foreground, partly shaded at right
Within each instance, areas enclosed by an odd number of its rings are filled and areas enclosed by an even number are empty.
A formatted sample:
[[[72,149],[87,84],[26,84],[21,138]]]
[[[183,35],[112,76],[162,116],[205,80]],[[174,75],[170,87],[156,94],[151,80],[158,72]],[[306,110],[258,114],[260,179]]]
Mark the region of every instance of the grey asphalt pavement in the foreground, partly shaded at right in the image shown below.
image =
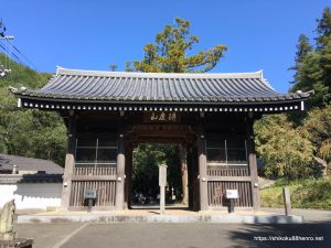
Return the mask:
[[[269,211],[275,212],[275,209]],[[34,238],[33,248],[330,248],[331,212],[302,209],[296,212],[307,216],[310,223],[286,225],[21,224],[17,225],[15,229],[19,231],[19,237]],[[263,241],[266,238],[285,239],[291,236],[323,240]]]

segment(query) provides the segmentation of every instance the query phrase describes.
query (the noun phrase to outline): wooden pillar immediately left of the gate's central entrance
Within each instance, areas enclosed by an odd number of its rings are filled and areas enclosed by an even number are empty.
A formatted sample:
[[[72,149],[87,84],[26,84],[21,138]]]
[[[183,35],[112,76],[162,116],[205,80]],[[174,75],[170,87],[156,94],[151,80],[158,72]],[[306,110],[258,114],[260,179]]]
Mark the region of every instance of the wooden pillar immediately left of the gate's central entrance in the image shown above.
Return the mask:
[[[125,137],[120,132],[117,142],[117,177],[116,177],[116,198],[115,198],[115,209],[124,209],[125,201]]]

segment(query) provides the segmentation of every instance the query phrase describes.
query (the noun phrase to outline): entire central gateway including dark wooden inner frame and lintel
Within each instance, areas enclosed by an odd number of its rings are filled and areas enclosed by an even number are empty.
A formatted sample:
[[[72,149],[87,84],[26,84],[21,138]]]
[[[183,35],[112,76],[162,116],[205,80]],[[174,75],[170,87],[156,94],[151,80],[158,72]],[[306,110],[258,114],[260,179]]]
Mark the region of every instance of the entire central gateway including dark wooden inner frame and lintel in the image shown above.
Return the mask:
[[[170,208],[197,209],[197,166],[188,152],[195,134],[186,125],[136,125],[127,132],[126,200],[128,208],[159,207],[159,164],[168,165],[166,204]],[[191,155],[192,152],[191,152]],[[196,158],[196,154],[194,154]],[[194,161],[194,160],[191,160]],[[195,192],[195,194],[193,193]],[[194,205],[194,197],[196,204]]]

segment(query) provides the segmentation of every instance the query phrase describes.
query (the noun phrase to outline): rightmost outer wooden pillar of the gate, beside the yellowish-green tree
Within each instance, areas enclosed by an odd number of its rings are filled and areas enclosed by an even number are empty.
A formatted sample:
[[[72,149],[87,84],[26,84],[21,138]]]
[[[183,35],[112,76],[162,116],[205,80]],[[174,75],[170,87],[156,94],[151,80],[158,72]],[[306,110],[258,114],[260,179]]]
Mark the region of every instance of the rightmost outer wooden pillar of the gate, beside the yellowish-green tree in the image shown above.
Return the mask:
[[[248,153],[248,166],[250,173],[250,190],[252,201],[254,211],[260,209],[259,192],[258,192],[258,175],[257,175],[257,162],[254,142],[254,119],[253,115],[249,114],[246,120],[246,141],[247,141],[247,153]]]

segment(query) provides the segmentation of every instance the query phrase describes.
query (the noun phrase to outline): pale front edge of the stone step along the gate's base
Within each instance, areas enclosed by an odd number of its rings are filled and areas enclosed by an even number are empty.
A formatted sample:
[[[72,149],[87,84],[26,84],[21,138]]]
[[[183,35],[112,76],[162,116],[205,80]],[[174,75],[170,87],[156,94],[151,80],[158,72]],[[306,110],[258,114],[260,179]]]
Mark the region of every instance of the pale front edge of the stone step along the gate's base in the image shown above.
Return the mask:
[[[21,215],[18,224],[38,223],[224,223],[224,224],[300,224],[298,215]]]

